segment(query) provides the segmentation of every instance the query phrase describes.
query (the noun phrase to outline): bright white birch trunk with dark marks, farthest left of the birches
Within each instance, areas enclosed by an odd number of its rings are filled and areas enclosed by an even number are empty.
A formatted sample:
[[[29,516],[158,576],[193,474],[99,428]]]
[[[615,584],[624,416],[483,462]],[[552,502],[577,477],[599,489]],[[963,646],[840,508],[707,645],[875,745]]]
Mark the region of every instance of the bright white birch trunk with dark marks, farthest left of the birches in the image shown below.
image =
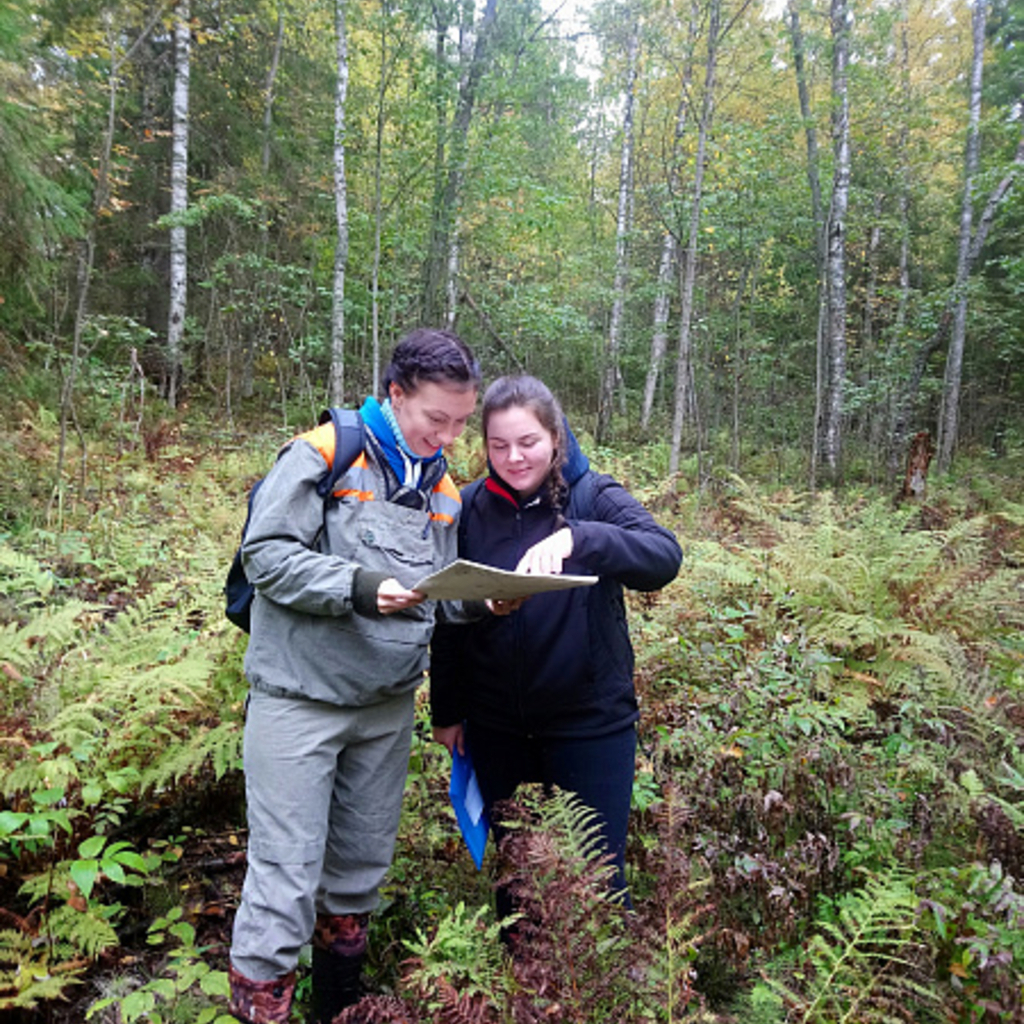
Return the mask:
[[[174,8],[174,119],[171,129],[171,214],[188,208],[189,0]],[[171,227],[171,306],[167,324],[167,403],[177,406],[188,299],[188,249],[183,224]]]

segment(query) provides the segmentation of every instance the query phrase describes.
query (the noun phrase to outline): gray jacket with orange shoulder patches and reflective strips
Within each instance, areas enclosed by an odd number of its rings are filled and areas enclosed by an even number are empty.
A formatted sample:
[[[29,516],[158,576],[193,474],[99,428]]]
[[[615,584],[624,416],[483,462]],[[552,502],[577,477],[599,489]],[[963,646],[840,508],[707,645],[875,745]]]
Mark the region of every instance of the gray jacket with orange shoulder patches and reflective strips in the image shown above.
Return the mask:
[[[256,689],[360,707],[423,680],[438,602],[381,615],[377,588],[389,577],[412,587],[455,559],[461,501],[446,474],[426,510],[383,500],[384,473],[365,451],[325,510],[325,465],[315,431],[296,438],[253,502],[242,546],[256,589],[245,672]],[[443,602],[441,614],[479,609]]]

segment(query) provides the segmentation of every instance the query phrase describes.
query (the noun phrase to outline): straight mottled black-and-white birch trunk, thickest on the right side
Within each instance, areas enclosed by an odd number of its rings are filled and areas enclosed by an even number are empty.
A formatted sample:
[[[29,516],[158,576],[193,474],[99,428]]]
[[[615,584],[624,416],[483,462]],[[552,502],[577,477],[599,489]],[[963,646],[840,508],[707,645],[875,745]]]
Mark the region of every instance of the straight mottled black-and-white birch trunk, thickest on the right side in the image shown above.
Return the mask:
[[[825,253],[827,292],[827,389],[823,406],[822,455],[833,483],[841,476],[843,399],[846,390],[846,215],[850,202],[849,12],[846,0],[831,2],[833,32],[833,194]]]

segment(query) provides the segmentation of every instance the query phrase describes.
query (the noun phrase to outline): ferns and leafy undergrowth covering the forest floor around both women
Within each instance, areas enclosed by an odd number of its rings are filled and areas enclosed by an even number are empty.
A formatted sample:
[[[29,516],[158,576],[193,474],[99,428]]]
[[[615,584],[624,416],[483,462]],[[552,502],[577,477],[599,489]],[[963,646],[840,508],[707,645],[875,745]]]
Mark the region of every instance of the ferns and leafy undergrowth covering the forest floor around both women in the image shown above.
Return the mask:
[[[221,586],[284,435],[191,422],[143,437],[112,418],[58,502],[52,420],[26,413],[0,453],[15,1021],[227,1020],[245,639]],[[630,597],[633,909],[605,895],[570,795],[523,793],[477,872],[421,701],[371,994],[349,1019],[1024,1020],[1024,476],[964,458],[896,506],[853,484],[698,486],[655,446],[593,455],[685,550],[674,584]],[[521,896],[514,957],[497,879]]]

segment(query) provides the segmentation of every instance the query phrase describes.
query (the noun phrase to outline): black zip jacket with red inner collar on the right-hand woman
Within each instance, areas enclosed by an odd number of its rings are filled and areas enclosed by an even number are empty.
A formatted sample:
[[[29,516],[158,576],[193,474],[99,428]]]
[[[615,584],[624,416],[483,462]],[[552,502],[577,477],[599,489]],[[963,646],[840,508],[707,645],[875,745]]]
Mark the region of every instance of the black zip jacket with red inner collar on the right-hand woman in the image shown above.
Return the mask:
[[[579,486],[593,471],[571,434],[569,450],[562,472]],[[494,474],[472,501],[464,500],[462,557],[514,569],[530,546],[564,522],[572,530],[564,571],[601,579],[593,587],[535,595],[511,615],[438,626],[430,668],[435,726],[468,720],[522,735],[598,736],[636,721],[623,587],[664,587],[679,571],[682,552],[625,487],[610,476],[595,477],[586,520],[563,519],[569,503],[555,509],[544,492],[517,501]]]

